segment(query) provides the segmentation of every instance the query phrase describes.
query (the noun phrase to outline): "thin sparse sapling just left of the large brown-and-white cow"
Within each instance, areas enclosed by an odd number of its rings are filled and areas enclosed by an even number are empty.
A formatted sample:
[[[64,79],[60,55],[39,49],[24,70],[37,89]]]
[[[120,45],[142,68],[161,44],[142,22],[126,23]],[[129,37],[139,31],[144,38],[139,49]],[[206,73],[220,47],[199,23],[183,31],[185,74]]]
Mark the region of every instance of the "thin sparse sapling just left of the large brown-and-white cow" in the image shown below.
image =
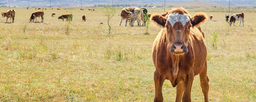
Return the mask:
[[[110,25],[109,25],[109,20],[113,17],[113,16],[115,16],[115,14],[116,14],[116,9],[115,8],[113,8],[113,7],[104,7],[104,8],[102,8],[101,9],[102,10],[102,12],[105,14],[105,16],[108,18],[108,34],[110,34]]]

